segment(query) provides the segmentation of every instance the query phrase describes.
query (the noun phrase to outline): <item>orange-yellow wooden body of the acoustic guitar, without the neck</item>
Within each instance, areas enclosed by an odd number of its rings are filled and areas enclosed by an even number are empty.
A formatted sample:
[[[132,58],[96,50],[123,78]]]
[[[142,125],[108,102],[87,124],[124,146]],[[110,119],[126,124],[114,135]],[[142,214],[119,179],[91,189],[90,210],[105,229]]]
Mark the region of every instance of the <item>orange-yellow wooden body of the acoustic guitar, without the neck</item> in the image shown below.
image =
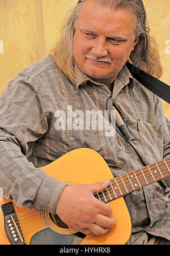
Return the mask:
[[[102,182],[105,179],[113,179],[113,175],[104,159],[92,149],[75,149],[58,160],[42,167],[47,175],[63,181],[69,185],[92,184]],[[3,198],[0,205],[9,203]],[[118,198],[108,203],[112,207],[111,216],[115,217],[116,225],[104,236],[86,236],[81,242],[82,245],[121,245],[126,244],[131,234],[131,220],[124,198]],[[19,208],[13,203],[18,223],[24,238],[24,243],[29,244],[34,234],[45,228],[51,228],[60,234],[74,234],[77,231],[65,224],[56,224],[53,216],[48,212],[36,212],[27,208]],[[4,214],[0,209],[0,244],[11,244],[7,238]],[[11,231],[9,231],[11,232]],[[10,235],[9,235],[10,236]],[[19,238],[20,238],[19,236]],[[22,239],[22,238],[20,238]]]

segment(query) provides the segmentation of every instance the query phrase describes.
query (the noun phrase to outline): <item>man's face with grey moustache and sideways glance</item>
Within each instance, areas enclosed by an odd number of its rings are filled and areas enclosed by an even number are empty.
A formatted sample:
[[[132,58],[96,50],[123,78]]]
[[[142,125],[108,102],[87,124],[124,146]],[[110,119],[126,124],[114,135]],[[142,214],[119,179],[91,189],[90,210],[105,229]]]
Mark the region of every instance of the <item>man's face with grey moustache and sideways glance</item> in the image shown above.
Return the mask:
[[[97,82],[111,85],[134,50],[136,16],[130,9],[109,10],[86,0],[73,40],[76,64]]]

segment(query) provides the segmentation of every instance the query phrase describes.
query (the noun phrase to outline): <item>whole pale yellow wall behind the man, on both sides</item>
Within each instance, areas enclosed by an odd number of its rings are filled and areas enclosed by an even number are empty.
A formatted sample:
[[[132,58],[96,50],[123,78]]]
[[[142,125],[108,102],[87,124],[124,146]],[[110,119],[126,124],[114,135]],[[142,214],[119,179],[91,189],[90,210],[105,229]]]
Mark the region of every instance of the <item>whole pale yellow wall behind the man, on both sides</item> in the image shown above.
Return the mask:
[[[16,73],[48,54],[58,39],[67,9],[76,2],[77,0],[0,0],[0,94]],[[143,2],[151,33],[158,41],[164,68],[161,80],[170,85],[170,1]],[[164,103],[164,111],[170,119],[168,103]]]

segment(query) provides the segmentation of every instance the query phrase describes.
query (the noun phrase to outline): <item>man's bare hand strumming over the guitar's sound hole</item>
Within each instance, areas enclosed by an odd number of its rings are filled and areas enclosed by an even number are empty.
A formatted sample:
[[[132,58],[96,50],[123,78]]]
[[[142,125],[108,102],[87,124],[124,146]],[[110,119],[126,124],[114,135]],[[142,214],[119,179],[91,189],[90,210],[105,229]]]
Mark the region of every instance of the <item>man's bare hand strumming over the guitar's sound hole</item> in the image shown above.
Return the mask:
[[[109,186],[109,181],[91,185],[66,186],[59,196],[56,214],[71,228],[101,236],[112,228],[116,220],[111,215],[110,205],[100,202],[94,194]]]

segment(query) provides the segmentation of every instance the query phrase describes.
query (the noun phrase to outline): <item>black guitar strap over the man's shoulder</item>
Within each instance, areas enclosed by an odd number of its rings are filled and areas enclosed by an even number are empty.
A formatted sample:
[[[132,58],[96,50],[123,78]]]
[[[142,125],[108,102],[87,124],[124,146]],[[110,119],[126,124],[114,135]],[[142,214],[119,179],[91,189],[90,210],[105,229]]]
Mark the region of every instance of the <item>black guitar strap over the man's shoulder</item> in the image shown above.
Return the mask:
[[[129,62],[126,62],[126,66],[128,67],[131,75],[142,83],[143,86],[170,104],[170,86],[155,77],[152,77],[152,75],[147,74],[143,70],[138,69]]]

